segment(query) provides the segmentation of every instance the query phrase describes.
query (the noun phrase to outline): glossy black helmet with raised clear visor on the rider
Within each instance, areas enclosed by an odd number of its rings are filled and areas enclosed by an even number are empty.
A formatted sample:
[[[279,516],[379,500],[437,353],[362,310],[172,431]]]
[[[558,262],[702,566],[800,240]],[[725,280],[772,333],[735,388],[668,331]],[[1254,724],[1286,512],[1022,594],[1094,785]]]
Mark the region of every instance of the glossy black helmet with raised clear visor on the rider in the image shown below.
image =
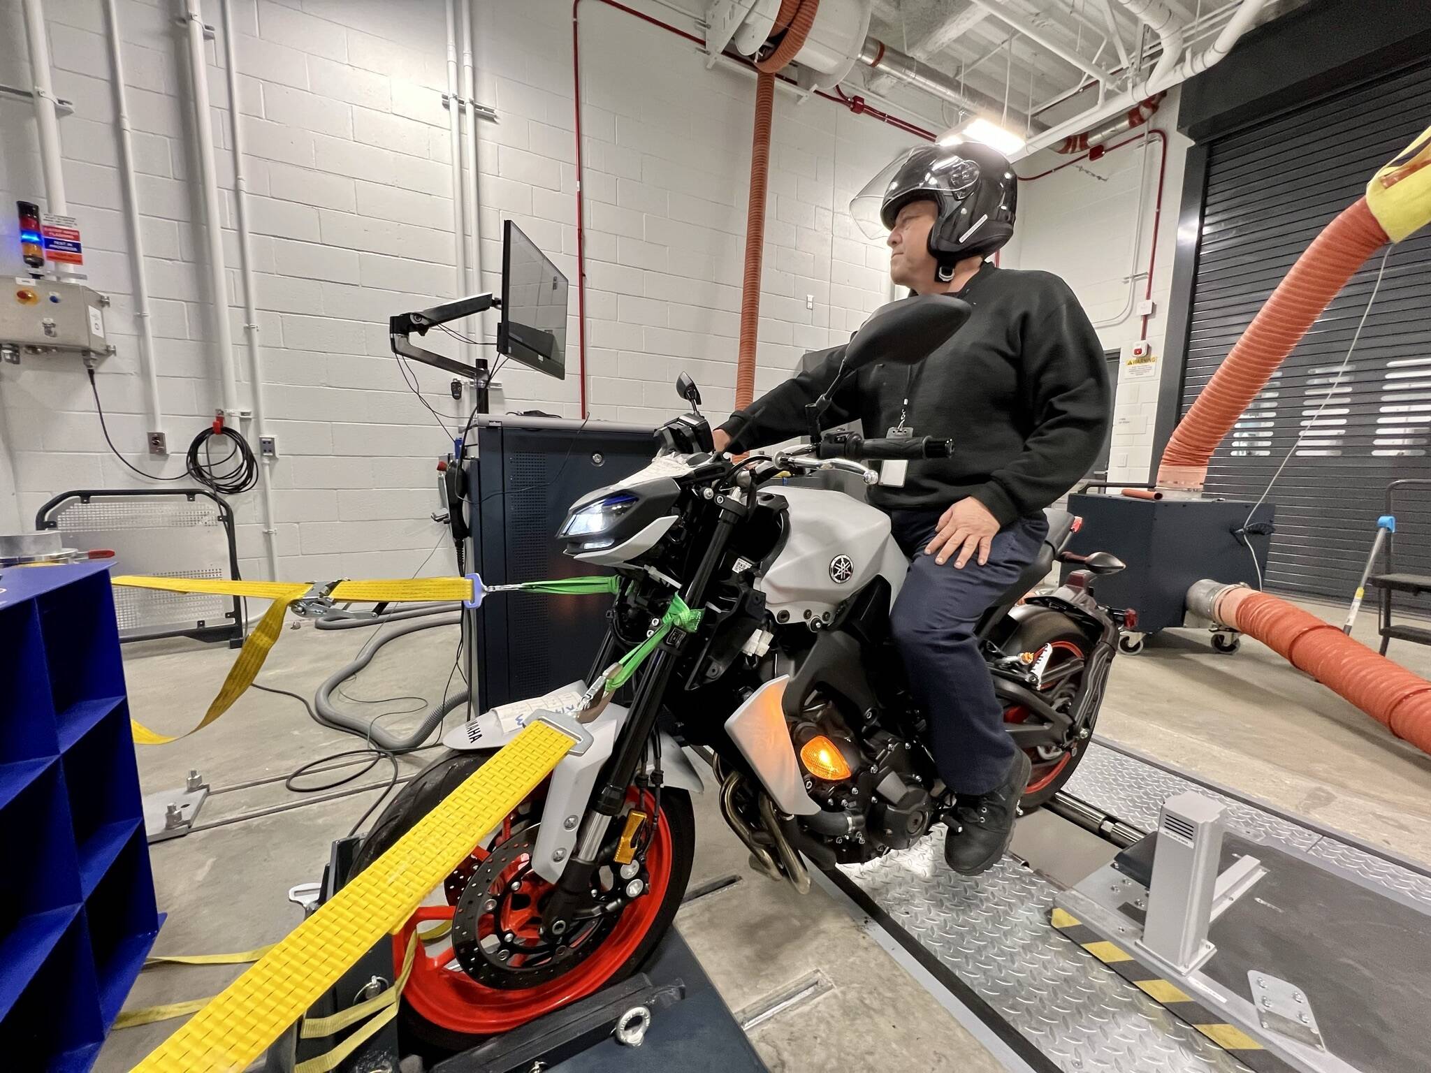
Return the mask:
[[[979,142],[916,146],[854,196],[850,215],[876,239],[887,235],[899,210],[914,200],[939,206],[929,229],[929,252],[939,262],[939,279],[949,282],[957,262],[989,256],[1013,236],[1019,180],[1003,153]]]

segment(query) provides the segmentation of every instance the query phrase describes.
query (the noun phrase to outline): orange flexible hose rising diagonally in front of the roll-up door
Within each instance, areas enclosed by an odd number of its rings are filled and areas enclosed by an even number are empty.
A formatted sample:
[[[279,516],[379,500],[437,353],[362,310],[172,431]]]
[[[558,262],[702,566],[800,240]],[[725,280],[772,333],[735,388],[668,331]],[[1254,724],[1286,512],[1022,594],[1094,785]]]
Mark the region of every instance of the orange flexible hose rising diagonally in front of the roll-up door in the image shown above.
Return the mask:
[[[1234,422],[1352,273],[1385,242],[1387,232],[1365,197],[1322,229],[1173,429],[1158,466],[1159,488],[1202,489],[1208,459]]]

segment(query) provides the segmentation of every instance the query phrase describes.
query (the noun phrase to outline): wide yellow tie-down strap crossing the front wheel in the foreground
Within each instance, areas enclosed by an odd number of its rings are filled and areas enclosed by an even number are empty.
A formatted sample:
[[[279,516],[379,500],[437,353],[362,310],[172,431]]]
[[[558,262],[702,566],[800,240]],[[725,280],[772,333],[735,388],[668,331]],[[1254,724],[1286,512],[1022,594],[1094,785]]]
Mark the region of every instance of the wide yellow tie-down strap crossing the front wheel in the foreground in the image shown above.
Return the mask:
[[[386,934],[395,934],[577,737],[532,722],[135,1070],[242,1070]]]

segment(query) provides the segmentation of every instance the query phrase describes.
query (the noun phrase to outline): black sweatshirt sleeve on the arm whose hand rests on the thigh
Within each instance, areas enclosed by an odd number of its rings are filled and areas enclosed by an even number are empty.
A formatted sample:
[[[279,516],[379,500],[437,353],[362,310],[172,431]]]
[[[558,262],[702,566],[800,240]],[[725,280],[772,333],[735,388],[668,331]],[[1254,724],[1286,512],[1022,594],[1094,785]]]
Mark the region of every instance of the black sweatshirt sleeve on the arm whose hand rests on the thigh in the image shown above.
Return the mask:
[[[1023,452],[970,492],[1000,525],[1043,509],[1085,476],[1109,423],[1103,346],[1072,292],[1025,332],[1022,348],[1033,429]]]

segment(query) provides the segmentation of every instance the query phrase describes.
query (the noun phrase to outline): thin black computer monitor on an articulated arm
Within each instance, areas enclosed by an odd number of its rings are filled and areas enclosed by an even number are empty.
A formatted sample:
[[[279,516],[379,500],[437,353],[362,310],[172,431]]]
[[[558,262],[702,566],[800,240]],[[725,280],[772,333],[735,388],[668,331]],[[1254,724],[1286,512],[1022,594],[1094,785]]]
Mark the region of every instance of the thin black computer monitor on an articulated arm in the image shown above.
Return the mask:
[[[502,319],[497,349],[567,379],[567,278],[511,220],[502,225]]]

